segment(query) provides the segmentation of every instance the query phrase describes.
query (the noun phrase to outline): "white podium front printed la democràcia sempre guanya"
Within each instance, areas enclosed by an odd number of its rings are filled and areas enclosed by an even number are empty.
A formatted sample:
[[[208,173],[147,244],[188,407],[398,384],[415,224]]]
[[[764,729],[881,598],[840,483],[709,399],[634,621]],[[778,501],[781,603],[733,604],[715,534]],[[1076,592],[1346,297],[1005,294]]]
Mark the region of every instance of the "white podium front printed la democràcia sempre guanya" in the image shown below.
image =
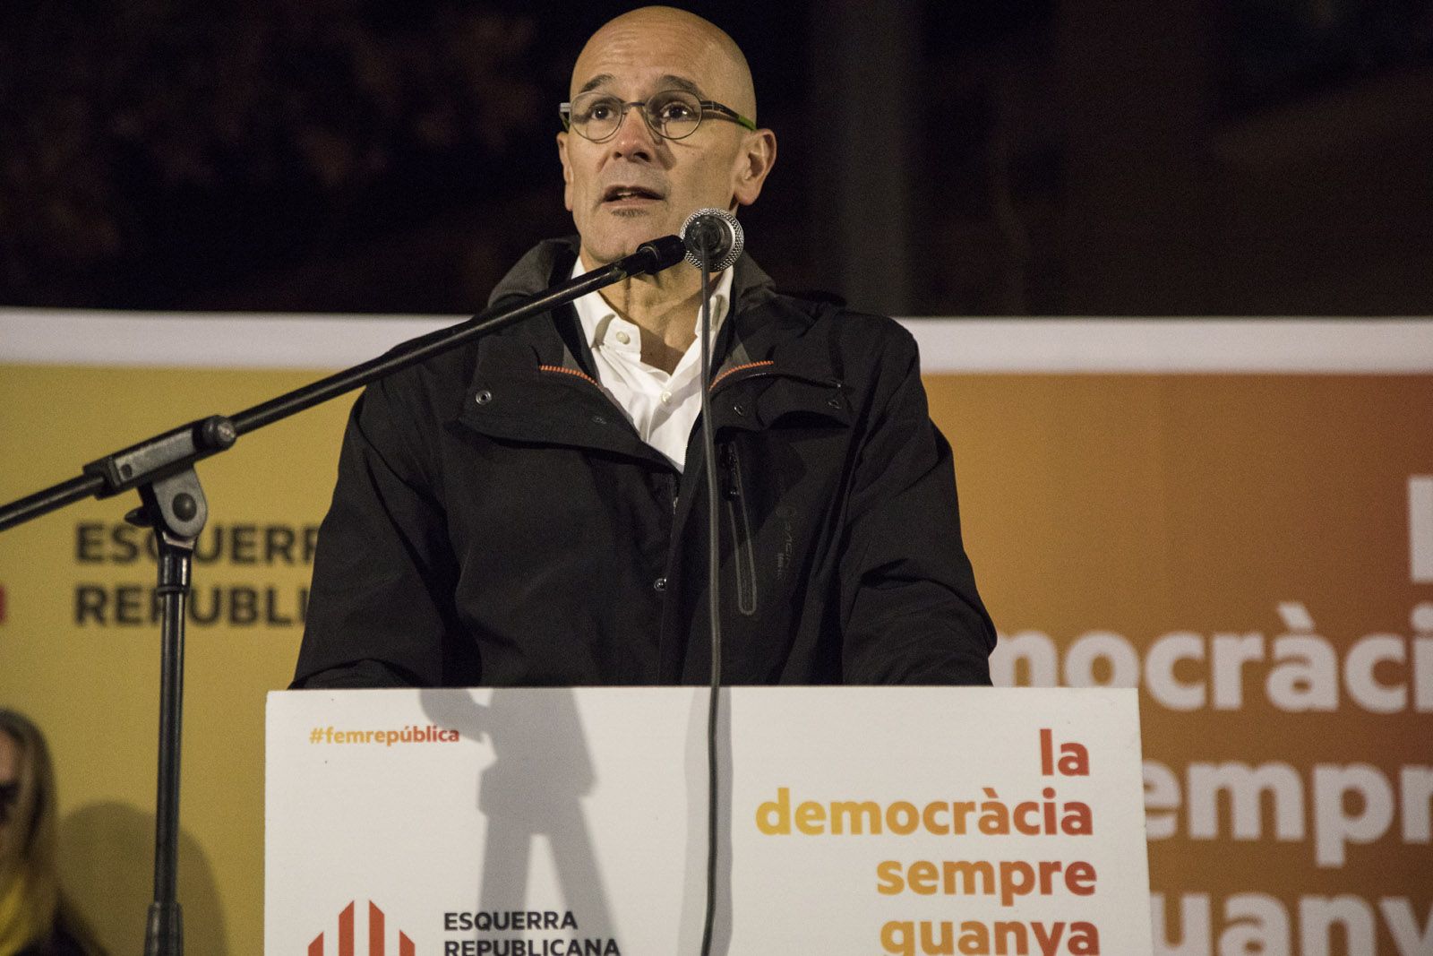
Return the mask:
[[[268,698],[269,956],[695,956],[706,688]],[[1151,952],[1134,689],[724,688],[714,953]]]

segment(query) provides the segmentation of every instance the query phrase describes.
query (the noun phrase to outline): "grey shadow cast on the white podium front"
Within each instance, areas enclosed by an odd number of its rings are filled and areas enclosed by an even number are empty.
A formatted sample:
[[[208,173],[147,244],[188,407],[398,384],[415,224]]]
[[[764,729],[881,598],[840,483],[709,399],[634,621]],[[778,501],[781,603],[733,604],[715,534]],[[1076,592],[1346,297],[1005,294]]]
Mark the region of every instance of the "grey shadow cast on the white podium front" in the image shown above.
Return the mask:
[[[479,774],[476,801],[487,818],[477,910],[570,910],[576,937],[613,936],[606,889],[598,870],[582,800],[595,771],[570,689],[543,689],[542,720],[533,720],[533,691],[497,688],[489,702],[471,695],[423,692],[423,709],[440,727],[487,737],[494,760]],[[539,840],[540,837],[540,840]],[[527,873],[546,843],[557,871],[560,900],[529,900]]]

